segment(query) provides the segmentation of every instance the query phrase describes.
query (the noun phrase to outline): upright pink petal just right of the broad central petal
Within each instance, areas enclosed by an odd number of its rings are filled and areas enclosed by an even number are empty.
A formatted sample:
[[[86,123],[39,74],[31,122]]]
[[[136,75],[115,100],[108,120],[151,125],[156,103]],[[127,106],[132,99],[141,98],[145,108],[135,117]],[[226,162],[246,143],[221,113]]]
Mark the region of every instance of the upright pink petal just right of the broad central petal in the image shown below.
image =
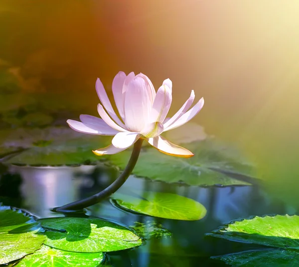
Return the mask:
[[[150,112],[150,121],[163,122],[171,106],[171,90],[163,84],[157,91]]]

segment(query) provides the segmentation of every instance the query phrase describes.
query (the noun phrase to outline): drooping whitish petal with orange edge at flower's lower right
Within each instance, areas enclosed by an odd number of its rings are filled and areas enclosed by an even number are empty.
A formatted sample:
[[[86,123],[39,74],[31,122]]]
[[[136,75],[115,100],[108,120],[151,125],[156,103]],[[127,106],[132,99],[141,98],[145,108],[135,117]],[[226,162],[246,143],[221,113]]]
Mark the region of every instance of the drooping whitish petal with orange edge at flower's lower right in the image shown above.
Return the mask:
[[[168,140],[166,140],[161,136],[149,138],[148,142],[150,145],[155,147],[160,152],[170,156],[182,157],[182,158],[190,158],[194,156],[194,154],[189,150],[177,146],[175,144],[172,144],[171,142],[169,142]]]

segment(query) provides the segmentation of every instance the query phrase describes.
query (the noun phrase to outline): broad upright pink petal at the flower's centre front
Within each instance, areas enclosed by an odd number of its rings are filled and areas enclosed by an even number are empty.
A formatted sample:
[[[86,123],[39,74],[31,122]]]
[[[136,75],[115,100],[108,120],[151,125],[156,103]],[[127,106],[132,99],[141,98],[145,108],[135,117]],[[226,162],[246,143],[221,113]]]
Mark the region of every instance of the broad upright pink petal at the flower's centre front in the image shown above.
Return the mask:
[[[149,121],[150,96],[145,80],[136,76],[128,85],[125,97],[125,124],[132,132],[141,132]]]

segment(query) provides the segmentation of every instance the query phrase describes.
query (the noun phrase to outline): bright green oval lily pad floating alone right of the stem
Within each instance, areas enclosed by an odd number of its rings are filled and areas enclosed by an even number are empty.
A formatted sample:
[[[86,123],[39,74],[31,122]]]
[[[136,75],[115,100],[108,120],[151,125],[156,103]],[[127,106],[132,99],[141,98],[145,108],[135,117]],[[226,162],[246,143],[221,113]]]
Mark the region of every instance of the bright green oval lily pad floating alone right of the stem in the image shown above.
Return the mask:
[[[126,210],[166,219],[200,220],[207,212],[197,201],[171,193],[144,191],[128,195],[117,192],[112,199]]]

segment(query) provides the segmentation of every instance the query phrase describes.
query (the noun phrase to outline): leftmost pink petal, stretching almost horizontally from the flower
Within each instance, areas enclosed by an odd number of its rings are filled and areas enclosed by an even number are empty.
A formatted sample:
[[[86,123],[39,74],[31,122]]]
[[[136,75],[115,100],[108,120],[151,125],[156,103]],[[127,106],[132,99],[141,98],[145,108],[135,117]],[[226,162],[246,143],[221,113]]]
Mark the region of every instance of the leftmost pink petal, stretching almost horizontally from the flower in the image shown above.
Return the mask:
[[[66,122],[73,130],[80,133],[93,135],[116,135],[118,133],[118,131],[109,127],[104,121],[102,121],[101,124],[99,124],[97,127],[95,127],[95,125],[92,124],[85,124],[75,120],[67,120]]]

